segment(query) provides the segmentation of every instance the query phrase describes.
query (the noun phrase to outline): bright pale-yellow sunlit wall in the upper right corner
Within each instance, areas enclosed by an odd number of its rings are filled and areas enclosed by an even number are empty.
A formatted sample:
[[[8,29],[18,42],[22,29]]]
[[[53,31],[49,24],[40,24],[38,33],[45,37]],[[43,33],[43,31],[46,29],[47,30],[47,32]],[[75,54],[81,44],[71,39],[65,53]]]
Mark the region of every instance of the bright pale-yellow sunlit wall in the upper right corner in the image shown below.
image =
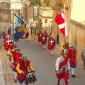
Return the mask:
[[[71,19],[85,24],[85,0],[72,0]]]

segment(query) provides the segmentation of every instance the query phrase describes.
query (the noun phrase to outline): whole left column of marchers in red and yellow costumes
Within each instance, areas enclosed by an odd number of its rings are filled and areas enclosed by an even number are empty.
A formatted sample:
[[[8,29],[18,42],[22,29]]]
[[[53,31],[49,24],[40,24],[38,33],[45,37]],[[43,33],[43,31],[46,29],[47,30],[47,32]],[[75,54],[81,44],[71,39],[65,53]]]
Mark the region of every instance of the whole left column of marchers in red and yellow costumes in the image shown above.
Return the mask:
[[[37,80],[35,71],[28,56],[23,55],[21,50],[17,48],[9,33],[4,34],[4,49],[7,51],[7,56],[9,56],[14,81],[24,82],[26,85],[35,82]]]

